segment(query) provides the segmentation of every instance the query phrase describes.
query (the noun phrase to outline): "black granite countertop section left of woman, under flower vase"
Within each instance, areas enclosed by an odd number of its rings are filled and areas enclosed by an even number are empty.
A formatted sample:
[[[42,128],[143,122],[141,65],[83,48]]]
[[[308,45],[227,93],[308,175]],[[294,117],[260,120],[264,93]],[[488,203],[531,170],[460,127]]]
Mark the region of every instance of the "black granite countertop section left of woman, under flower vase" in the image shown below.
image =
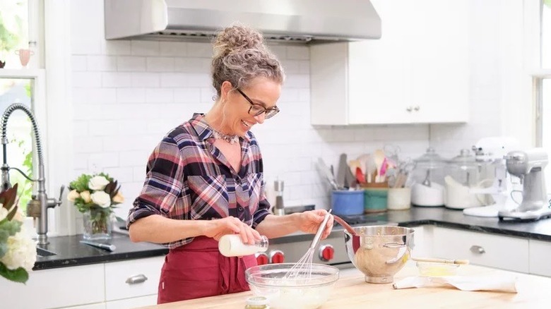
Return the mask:
[[[49,237],[49,244],[40,246],[55,255],[38,256],[34,270],[57,267],[68,267],[118,260],[131,260],[142,257],[166,255],[168,249],[155,243],[133,243],[129,236],[113,233],[109,241],[95,241],[109,243],[116,247],[113,252],[81,243],[82,235]]]

